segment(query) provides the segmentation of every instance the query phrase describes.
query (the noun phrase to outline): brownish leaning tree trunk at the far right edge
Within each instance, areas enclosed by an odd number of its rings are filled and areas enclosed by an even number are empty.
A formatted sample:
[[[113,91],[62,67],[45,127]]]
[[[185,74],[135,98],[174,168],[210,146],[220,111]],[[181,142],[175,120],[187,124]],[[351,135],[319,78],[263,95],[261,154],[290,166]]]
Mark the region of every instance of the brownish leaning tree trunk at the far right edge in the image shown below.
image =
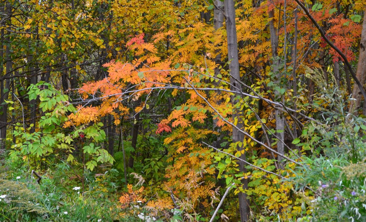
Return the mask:
[[[362,33],[361,33],[361,42],[360,42],[360,54],[358,57],[356,77],[362,85],[365,84],[365,78],[366,78],[366,11],[365,11],[365,14],[363,15]],[[351,100],[350,108],[348,110],[348,112],[350,112],[350,113],[353,113],[356,110],[358,110],[358,108],[361,104],[362,93],[361,93],[360,89],[358,88],[357,84],[354,84],[354,86],[353,86],[352,98],[354,100]]]

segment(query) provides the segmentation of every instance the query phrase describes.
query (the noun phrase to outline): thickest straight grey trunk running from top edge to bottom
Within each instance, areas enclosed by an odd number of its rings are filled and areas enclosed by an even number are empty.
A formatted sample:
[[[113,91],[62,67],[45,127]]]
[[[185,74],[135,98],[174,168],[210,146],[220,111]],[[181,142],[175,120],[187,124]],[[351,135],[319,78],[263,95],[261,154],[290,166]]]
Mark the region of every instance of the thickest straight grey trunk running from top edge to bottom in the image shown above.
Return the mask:
[[[235,24],[235,7],[234,0],[225,0],[224,1],[225,14],[226,14],[226,33],[227,33],[227,42],[228,42],[228,60],[229,69],[230,69],[230,83],[233,90],[235,87],[241,89],[242,85],[238,80],[240,80],[240,72],[239,72],[239,58],[238,58],[238,39],[236,37],[236,24]],[[234,99],[235,96],[232,97],[232,103],[236,104],[239,101]],[[240,116],[238,112],[233,110],[233,119],[238,119],[238,123],[236,127],[239,129],[243,129],[243,123],[240,120]],[[235,127],[232,128],[232,142],[243,142],[244,135],[240,133]],[[243,150],[243,147],[238,146],[238,150]],[[240,156],[241,159],[246,160],[246,153]],[[246,173],[247,170],[245,168],[246,164],[244,162],[239,161],[239,169],[241,172]],[[243,189],[246,190],[248,188],[248,180],[243,179]],[[246,193],[239,193],[239,208],[240,208],[240,220],[242,222],[249,221],[250,216],[250,202]]]

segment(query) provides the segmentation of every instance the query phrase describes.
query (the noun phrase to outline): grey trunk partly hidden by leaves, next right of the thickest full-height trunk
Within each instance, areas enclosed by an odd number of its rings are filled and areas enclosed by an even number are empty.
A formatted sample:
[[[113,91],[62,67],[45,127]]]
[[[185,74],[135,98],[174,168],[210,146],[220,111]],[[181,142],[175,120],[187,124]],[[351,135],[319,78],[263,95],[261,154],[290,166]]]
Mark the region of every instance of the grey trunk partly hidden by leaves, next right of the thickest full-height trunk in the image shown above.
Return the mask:
[[[272,18],[272,20],[270,20],[270,22],[269,22],[269,31],[270,31],[270,40],[271,40],[271,47],[272,47],[272,57],[274,58],[273,72],[276,74],[275,83],[278,85],[280,83],[281,73],[279,71],[280,63],[278,60],[278,53],[277,53],[278,38],[277,38],[277,32],[276,32],[275,25],[273,24],[274,14],[275,14],[275,10],[272,9],[269,12],[269,18]],[[282,100],[282,95],[277,90],[275,90],[275,99],[279,100],[279,101]],[[276,118],[277,152],[284,154],[285,153],[285,146],[284,146],[285,123],[284,123],[283,113],[278,109],[275,110],[275,118]],[[281,164],[283,157],[281,157],[280,155],[277,155],[277,160],[279,162],[279,167],[283,168],[283,165]]]

